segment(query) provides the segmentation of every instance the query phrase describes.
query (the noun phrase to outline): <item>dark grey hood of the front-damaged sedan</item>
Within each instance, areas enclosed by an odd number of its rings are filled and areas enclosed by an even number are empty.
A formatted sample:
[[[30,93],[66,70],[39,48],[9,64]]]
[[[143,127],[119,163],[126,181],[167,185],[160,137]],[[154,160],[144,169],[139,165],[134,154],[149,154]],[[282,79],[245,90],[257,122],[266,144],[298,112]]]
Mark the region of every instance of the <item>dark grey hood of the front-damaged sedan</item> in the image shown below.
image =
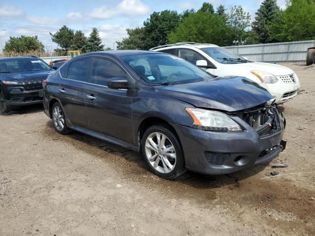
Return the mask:
[[[218,77],[205,82],[154,88],[158,94],[185,101],[195,107],[227,112],[252,108],[272,99],[266,89],[245,77]]]

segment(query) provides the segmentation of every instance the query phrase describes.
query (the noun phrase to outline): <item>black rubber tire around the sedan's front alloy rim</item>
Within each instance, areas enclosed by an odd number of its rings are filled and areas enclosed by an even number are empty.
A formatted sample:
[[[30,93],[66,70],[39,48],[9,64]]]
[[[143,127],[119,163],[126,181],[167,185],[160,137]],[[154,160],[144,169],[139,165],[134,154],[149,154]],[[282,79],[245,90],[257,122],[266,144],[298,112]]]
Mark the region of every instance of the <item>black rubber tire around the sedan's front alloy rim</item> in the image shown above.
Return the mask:
[[[163,134],[168,139],[165,141],[164,147],[166,146],[167,143],[170,144],[167,147],[173,146],[176,159],[175,159],[175,163],[173,164],[174,169],[172,171],[170,171],[169,173],[161,173],[158,170],[156,170],[152,166],[152,164],[150,163],[150,161],[147,157],[146,141],[150,135],[154,135],[155,133]],[[141,139],[141,151],[142,151],[144,161],[147,163],[150,170],[159,177],[166,178],[166,179],[175,179],[175,178],[181,176],[182,174],[184,174],[186,171],[184,154],[183,154],[183,150],[182,150],[181,144],[179,142],[179,139],[178,139],[177,135],[174,133],[174,131],[165,124],[158,124],[158,125],[151,126],[145,131],[145,133],[143,134],[142,139]],[[150,151],[151,151],[151,149],[150,149]],[[155,160],[160,158],[158,161],[159,162],[158,168],[160,168],[160,169],[163,168],[164,163],[162,161],[162,154],[161,153],[158,154],[158,152],[154,151],[154,150],[152,150],[152,153],[156,153],[158,155],[158,157]],[[159,156],[159,155],[161,155],[161,156]],[[168,160],[170,160],[171,162],[174,161],[171,157],[166,157],[165,155],[163,155],[163,158],[168,158]],[[165,162],[165,159],[163,159],[163,160]],[[166,169],[170,170],[170,168],[166,168]]]

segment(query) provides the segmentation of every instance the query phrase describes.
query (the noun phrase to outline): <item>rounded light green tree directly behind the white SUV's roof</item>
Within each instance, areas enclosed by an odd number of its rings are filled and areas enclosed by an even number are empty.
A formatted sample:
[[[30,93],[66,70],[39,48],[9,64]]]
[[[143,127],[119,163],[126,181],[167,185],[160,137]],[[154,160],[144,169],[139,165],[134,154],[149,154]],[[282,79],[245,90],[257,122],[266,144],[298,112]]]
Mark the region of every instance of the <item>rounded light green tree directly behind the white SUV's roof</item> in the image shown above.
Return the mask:
[[[211,26],[211,27],[209,27]],[[191,41],[230,45],[231,28],[223,17],[211,12],[198,11],[185,18],[175,32],[169,34],[170,42]]]

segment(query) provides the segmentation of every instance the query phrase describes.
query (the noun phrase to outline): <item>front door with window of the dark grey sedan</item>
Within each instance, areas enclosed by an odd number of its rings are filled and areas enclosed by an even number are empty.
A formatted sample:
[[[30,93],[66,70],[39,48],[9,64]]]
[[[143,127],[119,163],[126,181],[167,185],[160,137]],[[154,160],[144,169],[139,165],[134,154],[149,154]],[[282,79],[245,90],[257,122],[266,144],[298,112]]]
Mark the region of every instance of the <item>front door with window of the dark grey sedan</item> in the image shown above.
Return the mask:
[[[113,77],[124,77],[130,83],[133,82],[128,73],[114,60],[95,57],[91,83],[85,89],[88,126],[95,132],[132,143],[133,91],[109,89],[106,81]]]

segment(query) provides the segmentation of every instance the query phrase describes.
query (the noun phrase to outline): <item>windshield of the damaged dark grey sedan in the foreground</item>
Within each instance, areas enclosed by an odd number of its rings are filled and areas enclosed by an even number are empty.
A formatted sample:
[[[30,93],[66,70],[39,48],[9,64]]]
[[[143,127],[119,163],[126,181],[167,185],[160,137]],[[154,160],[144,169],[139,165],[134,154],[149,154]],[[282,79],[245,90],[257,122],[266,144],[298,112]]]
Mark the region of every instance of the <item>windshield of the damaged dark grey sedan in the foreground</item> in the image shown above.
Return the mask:
[[[190,62],[172,55],[141,54],[122,59],[151,85],[175,85],[207,81],[213,77]]]

